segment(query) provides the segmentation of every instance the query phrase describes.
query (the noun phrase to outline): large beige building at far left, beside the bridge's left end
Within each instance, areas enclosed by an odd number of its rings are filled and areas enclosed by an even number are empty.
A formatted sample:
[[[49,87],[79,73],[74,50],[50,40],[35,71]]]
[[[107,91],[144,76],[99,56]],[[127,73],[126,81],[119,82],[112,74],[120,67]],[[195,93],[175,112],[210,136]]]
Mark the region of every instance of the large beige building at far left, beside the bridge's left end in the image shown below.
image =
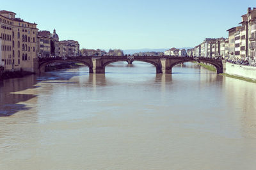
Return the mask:
[[[0,11],[1,61],[6,71],[34,72],[38,29],[35,23],[16,18],[15,15],[14,12]]]

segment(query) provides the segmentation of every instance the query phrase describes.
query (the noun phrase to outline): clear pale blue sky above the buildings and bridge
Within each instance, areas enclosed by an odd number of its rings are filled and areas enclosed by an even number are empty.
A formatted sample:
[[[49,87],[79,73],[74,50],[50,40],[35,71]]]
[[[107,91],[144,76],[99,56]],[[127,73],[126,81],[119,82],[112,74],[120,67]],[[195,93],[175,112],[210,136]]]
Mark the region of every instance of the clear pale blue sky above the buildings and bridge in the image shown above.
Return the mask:
[[[21,3],[22,2],[22,3]],[[204,38],[227,37],[255,0],[13,0],[0,10],[55,28],[60,40],[77,40],[86,49],[194,47]]]

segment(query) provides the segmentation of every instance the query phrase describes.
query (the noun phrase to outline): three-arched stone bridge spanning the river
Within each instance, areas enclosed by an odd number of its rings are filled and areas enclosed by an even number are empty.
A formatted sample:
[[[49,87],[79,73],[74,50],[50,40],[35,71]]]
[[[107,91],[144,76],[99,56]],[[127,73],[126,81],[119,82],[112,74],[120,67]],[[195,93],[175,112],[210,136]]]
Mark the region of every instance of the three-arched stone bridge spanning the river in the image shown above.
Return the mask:
[[[44,58],[34,60],[34,70],[36,73],[45,72],[45,66],[52,63],[82,63],[89,67],[90,73],[105,73],[105,68],[111,63],[118,61],[127,61],[132,64],[133,61],[142,61],[156,66],[156,73],[172,73],[175,65],[186,62],[196,61],[198,63],[209,63],[216,68],[216,73],[225,72],[225,61],[212,58],[191,58],[191,57],[171,57],[171,56],[79,56],[63,58]]]

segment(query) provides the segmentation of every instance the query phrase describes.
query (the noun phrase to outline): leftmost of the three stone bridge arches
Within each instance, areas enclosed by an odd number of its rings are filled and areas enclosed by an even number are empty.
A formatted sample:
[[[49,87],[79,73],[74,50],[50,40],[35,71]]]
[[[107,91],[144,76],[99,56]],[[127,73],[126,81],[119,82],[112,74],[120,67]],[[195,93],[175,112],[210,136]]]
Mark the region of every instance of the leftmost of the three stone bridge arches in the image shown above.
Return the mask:
[[[38,65],[38,70],[40,73],[44,73],[45,72],[45,66],[52,64],[52,63],[69,63],[69,62],[73,62],[73,63],[81,63],[83,65],[86,65],[89,67],[89,72],[93,73],[92,71],[92,61],[83,61],[83,60],[79,60],[79,59],[52,59],[52,60],[45,60],[45,61],[41,61],[40,64]]]

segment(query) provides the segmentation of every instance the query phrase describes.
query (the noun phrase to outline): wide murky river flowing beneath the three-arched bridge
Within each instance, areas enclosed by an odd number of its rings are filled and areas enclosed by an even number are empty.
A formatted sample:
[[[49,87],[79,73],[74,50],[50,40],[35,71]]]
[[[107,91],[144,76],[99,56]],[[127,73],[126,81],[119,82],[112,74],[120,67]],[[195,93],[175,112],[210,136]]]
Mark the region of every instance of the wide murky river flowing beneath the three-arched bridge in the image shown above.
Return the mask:
[[[0,82],[0,169],[255,169],[256,84],[135,61]]]

